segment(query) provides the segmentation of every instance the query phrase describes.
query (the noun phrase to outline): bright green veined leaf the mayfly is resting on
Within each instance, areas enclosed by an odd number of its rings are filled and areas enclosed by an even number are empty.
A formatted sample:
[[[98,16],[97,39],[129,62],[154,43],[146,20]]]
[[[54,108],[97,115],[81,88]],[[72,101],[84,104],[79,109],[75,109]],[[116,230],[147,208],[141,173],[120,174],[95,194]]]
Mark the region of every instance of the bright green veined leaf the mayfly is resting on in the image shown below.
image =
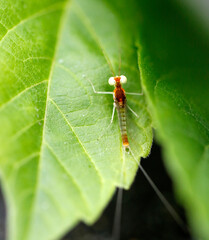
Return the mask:
[[[127,113],[134,159],[123,154],[116,117],[107,129],[112,96],[94,94],[88,81],[112,91],[107,81],[119,73],[121,55],[126,90],[141,92],[132,21],[114,4],[0,3],[0,166],[9,239],[56,239],[78,221],[92,223],[149,154],[144,97],[128,96],[139,115]]]

